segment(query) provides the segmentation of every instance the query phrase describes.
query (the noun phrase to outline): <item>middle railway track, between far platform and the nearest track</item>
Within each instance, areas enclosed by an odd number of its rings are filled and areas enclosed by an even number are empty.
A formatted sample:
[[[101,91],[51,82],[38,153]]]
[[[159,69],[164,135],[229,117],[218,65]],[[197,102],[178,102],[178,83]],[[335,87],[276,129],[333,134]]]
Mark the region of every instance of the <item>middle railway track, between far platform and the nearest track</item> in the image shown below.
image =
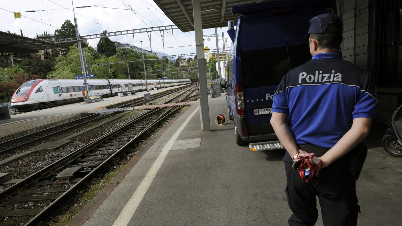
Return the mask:
[[[187,88],[187,87],[189,87],[189,86],[183,86],[183,87],[169,90],[167,92],[152,95],[151,100],[159,99],[159,98],[169,95],[171,93],[177,92],[177,90],[181,90],[181,89]],[[119,110],[121,110],[121,108],[124,108],[124,107],[138,106],[138,105],[142,105],[142,104],[144,104],[144,99],[136,100],[136,101],[134,101],[134,103],[124,104],[124,105],[121,105],[121,106],[115,107],[115,108],[118,108]],[[2,143],[0,143],[0,159],[2,159],[1,156],[3,156],[4,154],[14,152],[16,150],[25,148],[27,146],[31,146],[42,140],[46,140],[49,137],[53,137],[58,134],[66,133],[66,132],[70,131],[71,129],[74,129],[74,128],[82,126],[82,125],[86,125],[89,122],[104,119],[106,117],[113,115],[114,113],[115,112],[112,112],[107,115],[100,115],[100,114],[88,115],[86,117],[82,117],[82,118],[76,119],[74,121],[63,123],[61,125],[56,125],[56,126],[53,126],[53,127],[47,128],[47,129],[43,129],[43,130],[34,132],[32,134],[27,134],[27,135],[21,136],[19,138],[14,138],[12,140],[2,142]]]

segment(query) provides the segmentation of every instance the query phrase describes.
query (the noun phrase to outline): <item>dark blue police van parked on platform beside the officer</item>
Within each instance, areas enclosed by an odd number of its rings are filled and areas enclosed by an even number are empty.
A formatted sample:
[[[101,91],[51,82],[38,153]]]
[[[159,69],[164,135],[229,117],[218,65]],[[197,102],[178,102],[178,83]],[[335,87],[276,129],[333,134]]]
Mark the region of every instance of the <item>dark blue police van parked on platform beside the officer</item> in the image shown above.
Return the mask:
[[[241,14],[236,30],[228,23],[230,47],[227,80],[228,112],[234,120],[236,143],[277,140],[270,124],[275,88],[289,70],[311,60],[310,19],[336,13],[334,0],[272,0],[232,6]]]

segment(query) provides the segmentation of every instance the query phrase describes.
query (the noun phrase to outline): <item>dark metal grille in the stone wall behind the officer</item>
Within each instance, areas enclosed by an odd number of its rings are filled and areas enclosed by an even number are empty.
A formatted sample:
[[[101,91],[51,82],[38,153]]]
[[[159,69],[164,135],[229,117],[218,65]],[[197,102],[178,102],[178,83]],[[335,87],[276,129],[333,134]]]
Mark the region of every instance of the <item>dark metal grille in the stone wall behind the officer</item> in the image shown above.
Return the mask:
[[[402,87],[402,0],[377,3],[377,86]]]

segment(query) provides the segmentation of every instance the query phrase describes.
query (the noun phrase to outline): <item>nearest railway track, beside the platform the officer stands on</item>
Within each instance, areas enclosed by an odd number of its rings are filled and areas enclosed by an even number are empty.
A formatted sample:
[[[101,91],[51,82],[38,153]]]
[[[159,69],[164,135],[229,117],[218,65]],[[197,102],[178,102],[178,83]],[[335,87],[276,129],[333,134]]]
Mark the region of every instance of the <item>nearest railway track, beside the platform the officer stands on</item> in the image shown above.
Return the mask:
[[[194,100],[197,95],[191,94],[195,90],[196,87],[165,103]],[[119,157],[127,154],[126,152],[131,150],[150,128],[180,109],[175,105],[160,107],[161,105],[1,191],[3,210],[0,210],[0,217],[24,216],[26,219],[29,216],[30,220],[23,222],[25,226],[49,220],[94,177],[107,170]],[[126,156],[134,155],[135,152],[132,152]],[[16,208],[10,210],[5,208],[5,205]]]

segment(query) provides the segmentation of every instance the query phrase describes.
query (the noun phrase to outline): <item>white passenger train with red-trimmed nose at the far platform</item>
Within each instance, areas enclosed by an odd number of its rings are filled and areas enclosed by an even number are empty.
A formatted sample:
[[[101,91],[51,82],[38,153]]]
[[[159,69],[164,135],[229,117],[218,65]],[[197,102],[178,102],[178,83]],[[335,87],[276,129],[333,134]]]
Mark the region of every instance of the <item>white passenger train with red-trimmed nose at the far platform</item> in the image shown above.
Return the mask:
[[[22,84],[12,96],[11,106],[18,111],[32,111],[57,105],[84,101],[85,88],[82,79],[37,79]],[[119,92],[146,90],[145,80],[88,79],[89,95],[103,93],[105,97]],[[148,88],[164,88],[190,84],[189,79],[147,80]]]

